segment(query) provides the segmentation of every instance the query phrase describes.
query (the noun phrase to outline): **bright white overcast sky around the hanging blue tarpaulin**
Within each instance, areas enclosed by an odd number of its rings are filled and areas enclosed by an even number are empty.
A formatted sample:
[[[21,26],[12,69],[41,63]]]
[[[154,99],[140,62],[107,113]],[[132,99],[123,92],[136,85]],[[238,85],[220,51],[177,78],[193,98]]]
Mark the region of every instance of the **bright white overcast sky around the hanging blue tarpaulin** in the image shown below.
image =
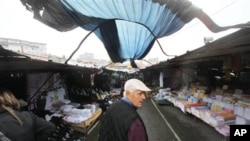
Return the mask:
[[[205,11],[220,26],[228,26],[250,21],[250,0],[191,0]],[[204,45],[204,37],[217,40],[235,29],[220,33],[210,32],[199,20],[194,19],[180,31],[158,39],[168,55],[182,55]],[[47,53],[69,57],[80,41],[88,34],[82,28],[68,32],[59,32],[33,19],[33,14],[25,9],[19,0],[0,0],[0,38],[20,39],[30,42],[45,43]],[[93,53],[97,59],[110,60],[102,42],[91,34],[74,55]],[[145,60],[158,58],[170,59],[155,43]]]

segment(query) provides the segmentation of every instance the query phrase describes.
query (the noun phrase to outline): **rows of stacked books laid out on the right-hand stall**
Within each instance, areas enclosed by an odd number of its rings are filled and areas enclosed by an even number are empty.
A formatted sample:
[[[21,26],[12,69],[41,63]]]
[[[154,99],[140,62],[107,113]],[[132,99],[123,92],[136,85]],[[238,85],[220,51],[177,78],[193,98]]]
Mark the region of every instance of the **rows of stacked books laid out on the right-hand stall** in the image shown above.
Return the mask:
[[[215,128],[224,136],[229,136],[229,126],[250,124],[250,96],[229,93],[227,87],[216,89],[205,95],[204,89],[184,88],[177,96],[168,100],[184,113],[191,113]]]

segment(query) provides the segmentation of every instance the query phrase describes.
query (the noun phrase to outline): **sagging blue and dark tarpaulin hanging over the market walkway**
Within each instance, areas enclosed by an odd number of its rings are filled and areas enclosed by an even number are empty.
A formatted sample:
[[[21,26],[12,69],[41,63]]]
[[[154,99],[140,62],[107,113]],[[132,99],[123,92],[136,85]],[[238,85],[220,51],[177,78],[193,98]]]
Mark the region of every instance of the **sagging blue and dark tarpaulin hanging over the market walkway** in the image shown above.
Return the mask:
[[[249,27],[220,27],[188,0],[21,0],[34,18],[66,32],[93,31],[113,62],[140,60],[155,40],[180,30],[194,18],[212,32]]]

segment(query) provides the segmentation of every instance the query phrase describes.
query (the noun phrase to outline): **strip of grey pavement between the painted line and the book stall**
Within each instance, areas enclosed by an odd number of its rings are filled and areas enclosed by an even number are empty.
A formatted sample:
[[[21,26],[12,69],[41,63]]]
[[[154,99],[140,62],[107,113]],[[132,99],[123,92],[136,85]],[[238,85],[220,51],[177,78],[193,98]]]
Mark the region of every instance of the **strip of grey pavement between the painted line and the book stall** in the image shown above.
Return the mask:
[[[183,113],[172,105],[157,106],[166,121],[179,136],[181,141],[223,141],[226,138],[213,127],[191,114]]]

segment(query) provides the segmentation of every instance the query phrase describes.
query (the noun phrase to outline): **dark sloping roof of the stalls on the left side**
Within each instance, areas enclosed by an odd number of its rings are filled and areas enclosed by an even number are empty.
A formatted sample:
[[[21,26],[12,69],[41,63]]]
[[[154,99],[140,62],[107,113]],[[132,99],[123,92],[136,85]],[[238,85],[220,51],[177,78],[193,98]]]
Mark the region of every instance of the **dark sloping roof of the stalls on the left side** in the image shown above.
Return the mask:
[[[0,71],[62,71],[92,69],[68,64],[31,59],[4,49],[0,45]]]

